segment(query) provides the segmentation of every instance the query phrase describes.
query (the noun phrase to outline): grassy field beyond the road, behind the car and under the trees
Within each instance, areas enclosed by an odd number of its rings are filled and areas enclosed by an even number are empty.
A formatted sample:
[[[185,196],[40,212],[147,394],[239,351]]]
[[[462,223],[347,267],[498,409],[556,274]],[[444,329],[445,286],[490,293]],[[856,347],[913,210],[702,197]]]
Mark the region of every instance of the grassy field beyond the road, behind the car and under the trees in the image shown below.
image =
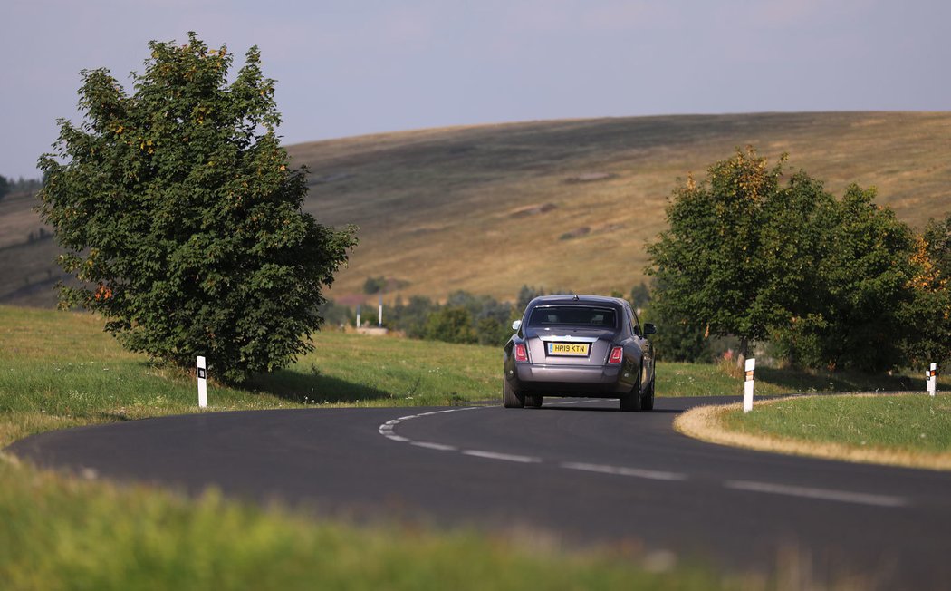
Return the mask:
[[[122,349],[101,319],[0,306],[0,445],[78,424],[194,412],[193,376]],[[212,382],[210,410],[418,406],[496,401],[501,349],[322,331],[297,364],[242,388]],[[741,394],[742,379],[703,364],[658,364],[659,396]],[[213,378],[213,374],[212,374]],[[906,389],[901,377],[758,370],[758,392]],[[5,419],[6,418],[6,419]]]

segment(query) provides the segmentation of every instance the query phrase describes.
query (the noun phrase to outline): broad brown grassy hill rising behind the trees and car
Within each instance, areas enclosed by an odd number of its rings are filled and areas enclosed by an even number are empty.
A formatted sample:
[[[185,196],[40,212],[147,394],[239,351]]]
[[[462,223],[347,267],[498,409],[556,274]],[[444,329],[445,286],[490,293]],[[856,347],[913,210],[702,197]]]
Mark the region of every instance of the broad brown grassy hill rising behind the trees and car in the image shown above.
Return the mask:
[[[539,121],[288,150],[312,173],[304,208],[321,223],[360,227],[350,266],[330,293],[356,303],[366,279],[378,276],[398,284],[403,297],[465,289],[511,300],[525,284],[627,293],[643,279],[645,243],[665,227],[677,179],[703,177],[709,164],[747,144],[772,161],[788,152],[790,168],[804,168],[837,195],[852,182],[878,187],[878,203],[915,227],[951,211],[951,112]],[[6,206],[0,246],[36,229],[7,227]],[[0,250],[0,265],[41,256],[44,241],[34,242],[6,259]],[[36,282],[3,270],[21,294],[15,301],[26,303]],[[0,302],[10,291],[4,287]]]

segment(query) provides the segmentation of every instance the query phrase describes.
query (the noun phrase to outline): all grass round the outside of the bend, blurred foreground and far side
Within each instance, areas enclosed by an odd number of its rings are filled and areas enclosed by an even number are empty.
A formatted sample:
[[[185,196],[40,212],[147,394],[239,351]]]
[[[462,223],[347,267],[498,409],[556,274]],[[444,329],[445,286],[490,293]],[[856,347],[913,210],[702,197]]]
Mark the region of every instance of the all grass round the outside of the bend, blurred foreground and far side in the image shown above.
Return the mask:
[[[54,428],[198,411],[191,375],[127,353],[101,327],[85,314],[0,306],[0,446]],[[316,344],[317,351],[274,376],[242,388],[212,384],[210,409],[497,397],[495,347],[338,332],[320,333]],[[664,364],[658,371],[660,395],[742,388],[713,365]],[[824,376],[793,372],[763,382],[775,391],[829,385]],[[0,581],[10,589],[764,589],[802,575],[782,563],[774,581],[689,565],[654,572],[657,562],[636,547],[578,553],[540,533],[355,526],[226,501],[213,490],[189,500],[83,481],[9,457],[0,457],[0,522]]]

